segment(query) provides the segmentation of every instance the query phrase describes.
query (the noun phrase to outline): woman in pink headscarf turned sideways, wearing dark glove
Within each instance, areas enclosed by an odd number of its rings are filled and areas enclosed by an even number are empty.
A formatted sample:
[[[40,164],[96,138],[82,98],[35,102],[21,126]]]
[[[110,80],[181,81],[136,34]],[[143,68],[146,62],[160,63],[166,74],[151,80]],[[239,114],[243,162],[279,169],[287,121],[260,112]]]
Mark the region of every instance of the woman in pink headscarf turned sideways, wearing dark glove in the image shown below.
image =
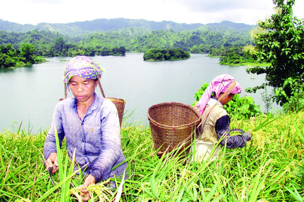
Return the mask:
[[[228,74],[215,77],[205,90],[195,106],[203,119],[203,123],[198,130],[199,139],[195,145],[195,161],[206,161],[209,157],[213,161],[217,157],[220,145],[226,145],[227,148],[244,147],[246,142],[251,140],[249,132],[230,135],[230,117],[223,108],[235,94],[241,91],[240,84],[235,81],[233,76]],[[205,118],[206,116],[207,118]],[[212,151],[220,139],[219,145]]]

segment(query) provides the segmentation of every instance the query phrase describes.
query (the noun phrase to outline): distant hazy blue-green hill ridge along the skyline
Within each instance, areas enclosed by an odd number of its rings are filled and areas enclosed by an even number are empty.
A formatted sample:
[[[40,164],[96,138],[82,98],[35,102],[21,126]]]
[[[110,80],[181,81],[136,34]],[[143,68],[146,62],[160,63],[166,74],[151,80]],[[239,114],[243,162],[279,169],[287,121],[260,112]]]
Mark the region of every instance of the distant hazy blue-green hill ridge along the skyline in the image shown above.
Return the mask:
[[[144,31],[155,31],[155,30],[173,30],[173,31],[184,31],[184,30],[210,30],[216,32],[226,32],[230,30],[242,30],[250,31],[254,25],[246,25],[243,23],[233,23],[229,21],[223,21],[221,23],[211,24],[185,24],[176,23],[172,21],[147,21],[147,20],[133,20],[125,18],[115,19],[96,19],[92,21],[83,22],[72,22],[72,23],[39,23],[37,25],[30,24],[18,24],[14,22],[4,21],[0,19],[0,30],[7,32],[27,32],[32,29],[54,31],[63,35],[76,36],[82,34],[88,34],[100,31],[113,31],[126,28],[139,28]]]

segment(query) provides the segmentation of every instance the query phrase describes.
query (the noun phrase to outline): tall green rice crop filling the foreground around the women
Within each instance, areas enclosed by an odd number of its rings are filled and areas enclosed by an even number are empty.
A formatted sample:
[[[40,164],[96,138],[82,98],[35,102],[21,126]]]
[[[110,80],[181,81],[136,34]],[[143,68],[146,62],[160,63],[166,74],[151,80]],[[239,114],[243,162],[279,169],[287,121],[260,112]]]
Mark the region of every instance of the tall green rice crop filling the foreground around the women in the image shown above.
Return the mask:
[[[185,163],[189,155],[169,154],[159,159],[148,126],[123,125],[122,147],[128,161],[129,179],[122,183],[118,199],[301,201],[304,192],[298,171],[304,156],[304,113],[278,116],[276,120],[257,117],[254,122],[232,119],[232,128],[256,129],[252,132],[252,141],[244,148],[222,148],[222,155],[215,162],[195,164]],[[66,150],[62,149],[61,172],[54,175],[55,181],[61,184],[53,187],[42,163],[46,131],[28,133],[3,131],[0,134],[0,201],[77,201],[71,199],[76,196],[70,193],[77,189],[70,186],[69,180],[77,187],[83,179],[80,176],[71,179],[73,173],[69,170],[71,163]],[[120,179],[110,180],[115,181],[117,187],[121,184]],[[94,201],[114,201],[119,195],[118,190],[109,193],[106,186],[99,183],[90,187]],[[100,199],[101,195],[108,198]]]

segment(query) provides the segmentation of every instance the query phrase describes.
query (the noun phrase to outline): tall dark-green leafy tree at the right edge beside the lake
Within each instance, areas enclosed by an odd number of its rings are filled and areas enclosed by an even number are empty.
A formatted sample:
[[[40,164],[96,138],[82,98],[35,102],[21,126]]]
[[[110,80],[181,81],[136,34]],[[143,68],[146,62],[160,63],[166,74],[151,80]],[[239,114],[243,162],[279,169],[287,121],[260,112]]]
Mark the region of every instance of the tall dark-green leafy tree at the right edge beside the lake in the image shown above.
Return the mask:
[[[292,6],[295,0],[273,0],[276,13],[264,22],[258,23],[260,32],[255,35],[256,56],[260,61],[271,62],[270,67],[253,67],[248,73],[265,74],[265,85],[278,91],[283,87],[285,95],[275,96],[280,105],[288,102],[292,96],[292,86],[284,85],[288,78],[299,79],[304,73],[304,21],[293,17]],[[246,89],[255,92],[264,88],[264,84]],[[277,93],[278,95],[278,93]],[[287,98],[286,98],[287,97]]]

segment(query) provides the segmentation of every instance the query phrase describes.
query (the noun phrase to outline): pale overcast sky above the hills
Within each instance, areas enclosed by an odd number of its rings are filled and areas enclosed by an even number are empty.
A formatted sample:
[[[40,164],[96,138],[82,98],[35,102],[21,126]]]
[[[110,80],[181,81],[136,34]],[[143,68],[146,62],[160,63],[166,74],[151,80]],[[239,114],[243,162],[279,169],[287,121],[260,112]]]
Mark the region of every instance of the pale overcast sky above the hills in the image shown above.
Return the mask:
[[[272,0],[2,0],[0,19],[33,25],[99,18],[254,25],[271,16],[274,6]],[[293,13],[304,18],[304,0],[295,0]]]

